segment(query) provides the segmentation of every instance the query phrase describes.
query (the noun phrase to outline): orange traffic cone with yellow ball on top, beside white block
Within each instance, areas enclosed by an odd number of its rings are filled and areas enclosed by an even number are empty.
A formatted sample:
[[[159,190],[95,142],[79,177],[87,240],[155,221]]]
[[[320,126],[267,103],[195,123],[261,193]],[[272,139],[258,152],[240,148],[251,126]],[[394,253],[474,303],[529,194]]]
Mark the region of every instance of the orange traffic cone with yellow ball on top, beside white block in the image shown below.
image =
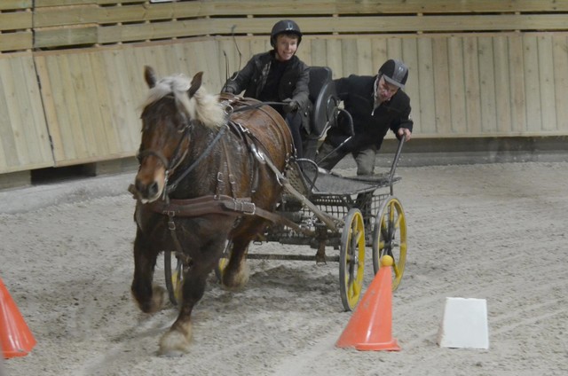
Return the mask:
[[[388,255],[381,259],[381,269],[335,342],[338,348],[400,350],[397,340],[392,338],[392,263]]]

